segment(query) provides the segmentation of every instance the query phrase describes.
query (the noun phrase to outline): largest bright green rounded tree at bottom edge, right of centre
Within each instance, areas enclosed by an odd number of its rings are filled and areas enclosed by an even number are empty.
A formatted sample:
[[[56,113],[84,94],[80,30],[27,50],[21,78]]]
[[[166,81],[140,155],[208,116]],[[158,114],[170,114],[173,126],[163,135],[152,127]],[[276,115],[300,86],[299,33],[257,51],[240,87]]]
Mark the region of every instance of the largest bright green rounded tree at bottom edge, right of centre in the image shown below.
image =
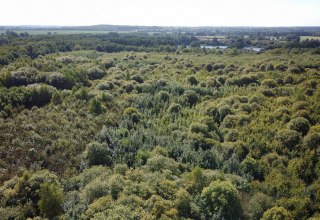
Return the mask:
[[[201,193],[205,219],[240,219],[242,209],[238,190],[228,181],[214,181]]]

